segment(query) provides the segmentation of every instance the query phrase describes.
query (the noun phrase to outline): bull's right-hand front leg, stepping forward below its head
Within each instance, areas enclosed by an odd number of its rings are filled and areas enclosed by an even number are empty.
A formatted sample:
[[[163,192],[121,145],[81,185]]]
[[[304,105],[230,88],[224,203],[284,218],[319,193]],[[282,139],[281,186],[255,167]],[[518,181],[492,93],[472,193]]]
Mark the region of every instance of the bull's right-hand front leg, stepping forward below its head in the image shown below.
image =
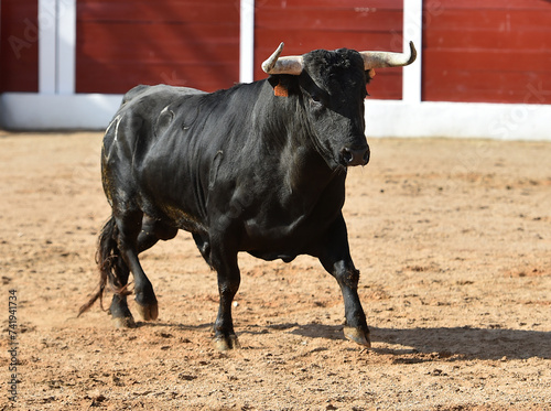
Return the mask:
[[[346,224],[342,215],[331,226],[324,240],[318,258],[341,286],[345,304],[345,337],[370,347],[369,328],[358,296],[359,271],[352,261]]]

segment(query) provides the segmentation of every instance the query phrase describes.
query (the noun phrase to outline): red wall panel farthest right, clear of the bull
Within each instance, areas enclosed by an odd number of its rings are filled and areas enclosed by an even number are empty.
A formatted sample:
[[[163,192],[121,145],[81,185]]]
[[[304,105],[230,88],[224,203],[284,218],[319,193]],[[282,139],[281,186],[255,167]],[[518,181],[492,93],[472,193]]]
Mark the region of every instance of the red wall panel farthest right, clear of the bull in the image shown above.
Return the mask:
[[[441,6],[423,28],[424,100],[551,100],[551,2],[446,0]],[[542,93],[533,98],[532,89]]]

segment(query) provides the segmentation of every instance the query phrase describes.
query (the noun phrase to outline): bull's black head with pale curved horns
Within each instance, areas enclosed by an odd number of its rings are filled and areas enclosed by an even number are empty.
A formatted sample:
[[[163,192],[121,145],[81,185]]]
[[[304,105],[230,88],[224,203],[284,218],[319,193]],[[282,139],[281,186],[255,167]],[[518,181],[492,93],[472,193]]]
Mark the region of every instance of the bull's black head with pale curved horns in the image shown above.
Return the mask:
[[[404,66],[417,57],[390,52],[316,50],[302,56],[280,57],[283,43],[262,63],[272,85],[302,96],[314,144],[329,165],[365,165],[369,147],[365,137],[364,99],[372,68]],[[291,75],[283,78],[279,75]],[[287,84],[281,85],[282,82]]]

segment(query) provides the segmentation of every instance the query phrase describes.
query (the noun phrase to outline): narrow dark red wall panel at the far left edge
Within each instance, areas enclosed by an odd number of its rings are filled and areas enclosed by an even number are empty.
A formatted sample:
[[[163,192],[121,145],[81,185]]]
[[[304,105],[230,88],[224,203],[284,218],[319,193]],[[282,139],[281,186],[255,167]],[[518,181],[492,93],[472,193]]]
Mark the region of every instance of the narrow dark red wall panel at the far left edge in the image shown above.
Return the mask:
[[[0,93],[39,90],[39,2],[0,1]]]

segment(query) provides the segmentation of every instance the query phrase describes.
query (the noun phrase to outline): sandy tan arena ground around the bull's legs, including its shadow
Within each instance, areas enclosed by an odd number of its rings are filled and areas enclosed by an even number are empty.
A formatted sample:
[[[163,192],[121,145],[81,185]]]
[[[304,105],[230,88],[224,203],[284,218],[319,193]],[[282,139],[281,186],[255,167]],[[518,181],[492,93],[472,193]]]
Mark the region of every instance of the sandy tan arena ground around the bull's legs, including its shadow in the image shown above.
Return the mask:
[[[372,349],[316,260],[242,255],[242,348],[220,354],[186,232],[142,257],[156,322],[76,317],[110,214],[100,140],[0,131],[0,410],[551,410],[551,143],[371,139],[344,213]]]

